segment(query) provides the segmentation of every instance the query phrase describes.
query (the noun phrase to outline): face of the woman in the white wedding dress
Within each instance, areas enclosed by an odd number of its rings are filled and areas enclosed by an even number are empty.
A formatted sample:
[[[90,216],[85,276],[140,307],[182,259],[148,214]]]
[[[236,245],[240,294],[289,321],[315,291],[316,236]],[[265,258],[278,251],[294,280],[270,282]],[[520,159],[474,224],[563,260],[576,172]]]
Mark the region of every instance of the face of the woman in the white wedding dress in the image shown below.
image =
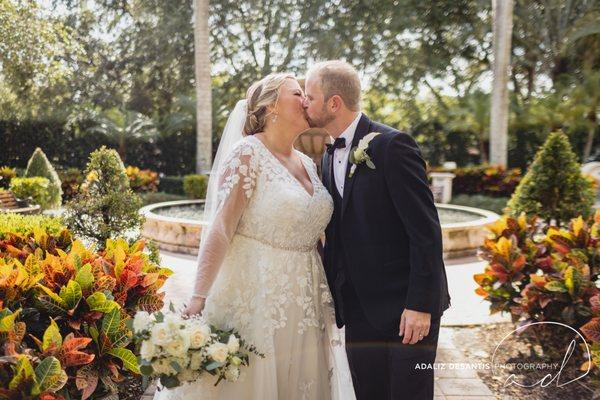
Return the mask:
[[[309,128],[304,114],[304,92],[295,79],[286,79],[279,88],[279,98],[274,113],[277,122],[304,131]]]

